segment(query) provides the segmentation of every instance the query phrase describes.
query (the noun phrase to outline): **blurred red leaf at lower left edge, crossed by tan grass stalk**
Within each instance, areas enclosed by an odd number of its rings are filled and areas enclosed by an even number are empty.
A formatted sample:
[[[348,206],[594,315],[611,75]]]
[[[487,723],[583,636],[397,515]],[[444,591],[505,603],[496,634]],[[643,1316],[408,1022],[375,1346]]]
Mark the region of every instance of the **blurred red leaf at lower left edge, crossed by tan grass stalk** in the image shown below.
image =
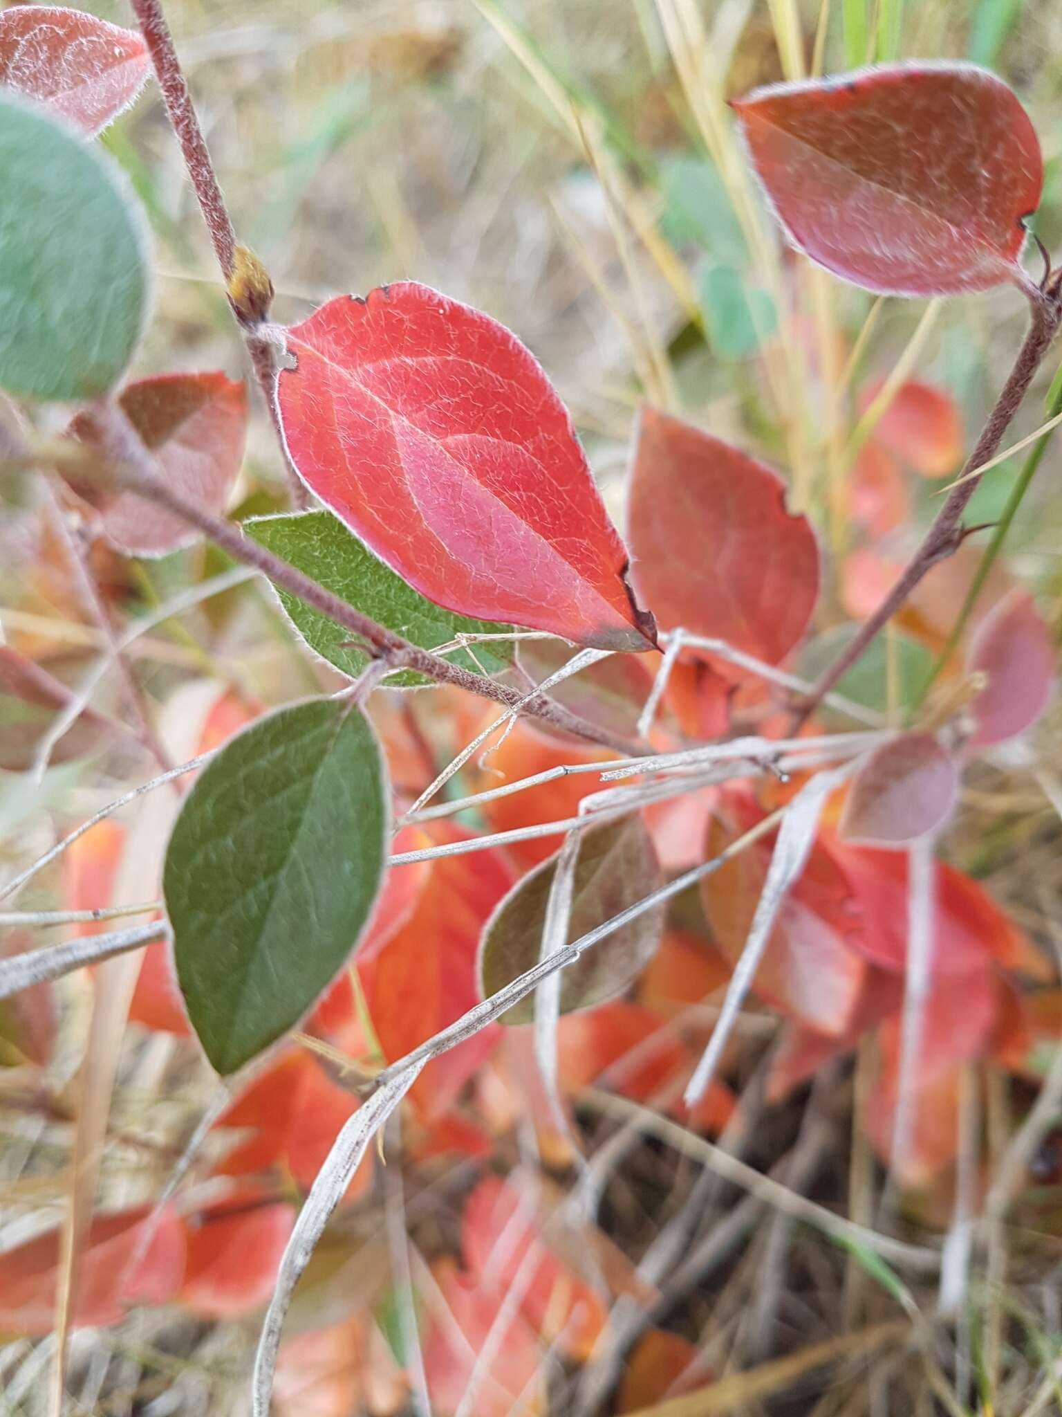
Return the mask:
[[[74,1328],[120,1323],[133,1304],[167,1304],[184,1272],[184,1230],[166,1207],[154,1226],[143,1260],[130,1268],[150,1207],[98,1216],[81,1253]],[[51,1333],[59,1231],[28,1240],[0,1255],[0,1329],[8,1333]]]

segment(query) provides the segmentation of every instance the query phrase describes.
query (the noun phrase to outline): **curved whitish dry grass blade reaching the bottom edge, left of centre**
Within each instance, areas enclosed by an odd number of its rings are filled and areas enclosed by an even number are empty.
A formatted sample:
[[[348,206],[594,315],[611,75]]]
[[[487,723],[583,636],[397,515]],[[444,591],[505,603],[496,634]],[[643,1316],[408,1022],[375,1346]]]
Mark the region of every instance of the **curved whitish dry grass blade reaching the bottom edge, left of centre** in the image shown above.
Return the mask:
[[[324,1233],[333,1210],[340,1203],[350,1178],[365,1155],[372,1136],[413,1085],[422,1067],[423,1061],[405,1064],[399,1073],[382,1083],[368,1101],[354,1112],[331,1144],[331,1151],[317,1172],[313,1186],[310,1186],[310,1195],[299,1212],[299,1219],[295,1223],[292,1237],[280,1260],[273,1297],[269,1301],[269,1308],[262,1323],[262,1336],[258,1340],[252,1386],[253,1417],[269,1417],[276,1355],[280,1348],[280,1329],[283,1328],[295,1287],[303,1270],[310,1263],[317,1241]]]

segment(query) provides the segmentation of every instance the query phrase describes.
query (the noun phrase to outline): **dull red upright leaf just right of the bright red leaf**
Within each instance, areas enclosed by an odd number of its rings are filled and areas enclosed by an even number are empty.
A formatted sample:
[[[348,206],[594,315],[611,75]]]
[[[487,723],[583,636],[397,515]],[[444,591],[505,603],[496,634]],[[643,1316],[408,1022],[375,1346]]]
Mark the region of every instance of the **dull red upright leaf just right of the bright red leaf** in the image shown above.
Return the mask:
[[[643,408],[630,485],[632,574],[666,629],[725,639],[776,665],[818,595],[818,546],[769,468]]]

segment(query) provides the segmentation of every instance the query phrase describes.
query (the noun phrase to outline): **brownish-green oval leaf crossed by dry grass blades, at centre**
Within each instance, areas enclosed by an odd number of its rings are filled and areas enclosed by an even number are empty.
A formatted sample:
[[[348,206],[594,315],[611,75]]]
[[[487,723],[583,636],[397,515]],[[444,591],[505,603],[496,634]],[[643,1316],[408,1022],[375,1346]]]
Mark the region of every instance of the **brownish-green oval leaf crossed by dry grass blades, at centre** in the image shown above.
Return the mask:
[[[517,881],[487,921],[480,939],[480,993],[504,989],[538,964],[545,907],[556,871],[556,856]],[[571,944],[622,910],[660,890],[664,879],[653,839],[640,815],[582,833],[575,867],[575,894],[568,930]],[[561,1013],[589,1009],[623,993],[653,958],[664,931],[666,907],[647,910],[588,949],[561,973]],[[534,996],[503,1015],[503,1023],[531,1023]]]

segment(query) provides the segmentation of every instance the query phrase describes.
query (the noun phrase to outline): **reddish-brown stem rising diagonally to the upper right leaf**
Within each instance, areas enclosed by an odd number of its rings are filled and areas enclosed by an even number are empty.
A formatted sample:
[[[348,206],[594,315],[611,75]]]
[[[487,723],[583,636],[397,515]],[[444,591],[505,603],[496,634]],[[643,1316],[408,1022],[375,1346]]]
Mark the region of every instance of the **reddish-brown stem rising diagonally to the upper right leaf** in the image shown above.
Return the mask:
[[[814,689],[799,703],[796,710],[799,723],[804,723],[816,711],[823,697],[862,657],[888,621],[903,606],[906,598],[926,572],[939,561],[946,561],[949,555],[953,555],[967,534],[961,526],[963,512],[966,512],[970,497],[981,482],[980,478],[970,475],[976,473],[978,468],[983,468],[986,462],[990,462],[995,456],[1003,435],[1028,393],[1041,360],[1058,333],[1059,320],[1062,320],[1062,295],[1059,292],[1058,272],[1055,278],[1045,282],[1044,290],[1028,286],[1027,295],[1032,307],[1029,332],[1021,346],[1014,368],[995,401],[995,407],[981,429],[981,436],[977,439],[977,445],[963,468],[959,482],[952,487],[936,520],[929,531],[926,531],[922,544],[910,561],[908,561],[889,594],[860,628],[858,635],[855,635],[844,652],[823,673]]]

